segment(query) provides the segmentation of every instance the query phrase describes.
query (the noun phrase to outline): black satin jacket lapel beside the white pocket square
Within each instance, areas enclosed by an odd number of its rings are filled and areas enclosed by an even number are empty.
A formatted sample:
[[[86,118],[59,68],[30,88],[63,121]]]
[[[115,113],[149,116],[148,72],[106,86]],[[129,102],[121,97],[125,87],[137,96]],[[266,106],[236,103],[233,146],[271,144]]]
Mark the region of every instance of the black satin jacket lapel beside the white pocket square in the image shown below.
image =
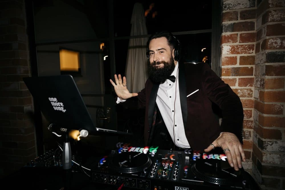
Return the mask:
[[[180,105],[181,105],[183,124],[185,128],[187,122],[188,109],[187,109],[186,76],[185,76],[184,63],[179,64],[178,79],[179,79]]]

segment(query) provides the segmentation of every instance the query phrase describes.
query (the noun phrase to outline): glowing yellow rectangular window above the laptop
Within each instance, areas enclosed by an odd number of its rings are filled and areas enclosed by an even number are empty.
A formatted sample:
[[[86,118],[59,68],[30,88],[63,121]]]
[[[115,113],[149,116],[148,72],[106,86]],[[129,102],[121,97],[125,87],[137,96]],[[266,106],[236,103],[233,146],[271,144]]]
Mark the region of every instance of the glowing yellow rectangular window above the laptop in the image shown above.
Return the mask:
[[[80,68],[79,52],[61,49],[59,58],[61,71],[78,71]]]

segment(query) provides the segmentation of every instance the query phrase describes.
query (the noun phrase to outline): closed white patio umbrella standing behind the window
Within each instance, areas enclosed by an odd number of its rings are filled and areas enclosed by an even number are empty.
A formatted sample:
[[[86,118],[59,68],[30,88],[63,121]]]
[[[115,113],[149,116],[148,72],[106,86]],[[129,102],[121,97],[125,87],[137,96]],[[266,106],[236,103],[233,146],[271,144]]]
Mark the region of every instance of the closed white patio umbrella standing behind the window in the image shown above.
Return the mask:
[[[130,36],[148,34],[141,3],[135,3],[134,5],[131,24]],[[134,38],[129,41],[125,75],[127,86],[131,93],[141,91],[148,78],[146,42],[147,38]]]

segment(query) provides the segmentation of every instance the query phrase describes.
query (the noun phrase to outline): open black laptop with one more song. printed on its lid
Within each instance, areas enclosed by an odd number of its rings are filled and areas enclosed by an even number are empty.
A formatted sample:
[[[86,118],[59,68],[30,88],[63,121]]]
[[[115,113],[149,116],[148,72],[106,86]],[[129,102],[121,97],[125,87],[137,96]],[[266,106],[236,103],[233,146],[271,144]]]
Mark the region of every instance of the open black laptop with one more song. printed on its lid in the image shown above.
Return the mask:
[[[71,75],[25,77],[23,80],[50,124],[68,130],[85,129],[96,133],[131,134],[95,127]]]

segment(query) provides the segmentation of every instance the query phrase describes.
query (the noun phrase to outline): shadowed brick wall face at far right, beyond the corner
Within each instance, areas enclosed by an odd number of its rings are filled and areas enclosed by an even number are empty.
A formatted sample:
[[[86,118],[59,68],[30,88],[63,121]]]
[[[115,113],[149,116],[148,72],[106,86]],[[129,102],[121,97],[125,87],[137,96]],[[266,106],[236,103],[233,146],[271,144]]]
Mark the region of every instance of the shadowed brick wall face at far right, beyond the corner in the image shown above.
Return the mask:
[[[258,2],[253,174],[261,187],[285,189],[285,1]]]

